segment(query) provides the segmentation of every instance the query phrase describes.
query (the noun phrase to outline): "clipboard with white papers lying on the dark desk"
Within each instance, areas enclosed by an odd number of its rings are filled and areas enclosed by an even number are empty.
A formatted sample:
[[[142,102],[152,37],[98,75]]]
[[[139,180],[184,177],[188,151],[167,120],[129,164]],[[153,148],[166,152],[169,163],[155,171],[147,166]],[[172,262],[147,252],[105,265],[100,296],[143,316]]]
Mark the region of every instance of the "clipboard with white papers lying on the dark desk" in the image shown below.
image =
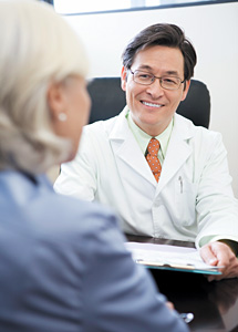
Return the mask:
[[[219,268],[206,264],[195,248],[125,242],[136,263],[148,268],[177,270],[204,274],[220,274]]]

